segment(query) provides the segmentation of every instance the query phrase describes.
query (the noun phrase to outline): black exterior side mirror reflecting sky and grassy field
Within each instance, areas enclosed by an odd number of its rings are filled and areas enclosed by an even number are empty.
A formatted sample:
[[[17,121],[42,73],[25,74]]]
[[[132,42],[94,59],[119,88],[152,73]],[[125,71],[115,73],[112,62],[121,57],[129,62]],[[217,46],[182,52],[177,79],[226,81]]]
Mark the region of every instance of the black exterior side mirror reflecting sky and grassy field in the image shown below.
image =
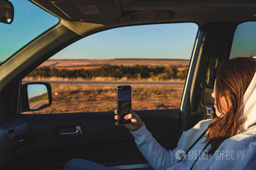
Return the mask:
[[[52,104],[52,89],[49,83],[31,82],[22,84],[19,113],[37,111]]]

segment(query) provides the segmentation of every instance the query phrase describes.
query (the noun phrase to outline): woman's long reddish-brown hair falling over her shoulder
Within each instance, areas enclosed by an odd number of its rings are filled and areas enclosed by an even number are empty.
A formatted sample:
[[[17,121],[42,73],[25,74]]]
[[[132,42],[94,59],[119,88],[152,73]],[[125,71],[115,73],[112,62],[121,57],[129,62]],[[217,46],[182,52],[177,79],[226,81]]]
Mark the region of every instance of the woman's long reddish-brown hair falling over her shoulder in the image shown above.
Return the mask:
[[[252,57],[235,58],[223,63],[216,75],[215,100],[222,113],[208,126],[206,142],[211,149],[207,154],[214,154],[223,141],[237,133],[245,131],[245,118],[241,112],[241,101],[256,71],[256,59]],[[221,97],[227,104],[227,112],[221,106]]]

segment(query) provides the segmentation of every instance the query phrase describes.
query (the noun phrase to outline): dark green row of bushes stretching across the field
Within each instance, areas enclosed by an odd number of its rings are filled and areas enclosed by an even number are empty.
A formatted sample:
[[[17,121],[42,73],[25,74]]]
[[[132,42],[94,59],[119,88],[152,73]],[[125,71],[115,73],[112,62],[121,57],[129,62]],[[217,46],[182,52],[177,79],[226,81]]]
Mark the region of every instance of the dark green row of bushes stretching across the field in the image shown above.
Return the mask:
[[[154,78],[159,80],[168,79],[182,79],[186,78],[188,69],[178,71],[177,67],[174,66],[154,66],[148,67],[144,65],[135,66],[102,66],[92,69],[59,69],[50,68],[47,66],[38,67],[34,71],[30,72],[28,77],[34,78],[50,78],[50,77],[61,77],[61,78],[84,78],[91,79],[93,77],[114,77],[127,79],[147,79]]]

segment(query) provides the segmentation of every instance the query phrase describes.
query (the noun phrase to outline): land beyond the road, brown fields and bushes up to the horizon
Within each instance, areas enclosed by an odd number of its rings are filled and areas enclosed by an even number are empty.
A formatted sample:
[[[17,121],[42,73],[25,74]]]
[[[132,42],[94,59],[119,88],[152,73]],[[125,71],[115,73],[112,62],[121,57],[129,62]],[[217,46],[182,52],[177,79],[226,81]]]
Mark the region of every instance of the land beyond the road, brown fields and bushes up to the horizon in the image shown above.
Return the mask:
[[[140,64],[139,64],[140,63]],[[48,60],[23,80],[184,81],[188,60]]]

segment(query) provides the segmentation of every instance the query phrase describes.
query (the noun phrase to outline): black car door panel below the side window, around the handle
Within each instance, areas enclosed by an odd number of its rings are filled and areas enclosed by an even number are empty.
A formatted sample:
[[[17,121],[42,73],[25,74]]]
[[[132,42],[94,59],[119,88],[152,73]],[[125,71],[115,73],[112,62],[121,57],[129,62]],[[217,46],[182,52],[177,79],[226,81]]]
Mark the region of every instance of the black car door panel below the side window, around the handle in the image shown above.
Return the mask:
[[[147,129],[165,149],[177,144],[180,124],[179,109],[139,110]],[[114,112],[82,112],[61,114],[19,114],[29,124],[31,154],[29,159],[42,166],[64,165],[73,158],[87,159],[106,166],[146,163],[134,137],[123,126],[114,123]],[[84,135],[79,138],[60,138],[56,126],[82,125]],[[38,159],[40,158],[40,159]],[[40,163],[39,163],[40,164]]]

